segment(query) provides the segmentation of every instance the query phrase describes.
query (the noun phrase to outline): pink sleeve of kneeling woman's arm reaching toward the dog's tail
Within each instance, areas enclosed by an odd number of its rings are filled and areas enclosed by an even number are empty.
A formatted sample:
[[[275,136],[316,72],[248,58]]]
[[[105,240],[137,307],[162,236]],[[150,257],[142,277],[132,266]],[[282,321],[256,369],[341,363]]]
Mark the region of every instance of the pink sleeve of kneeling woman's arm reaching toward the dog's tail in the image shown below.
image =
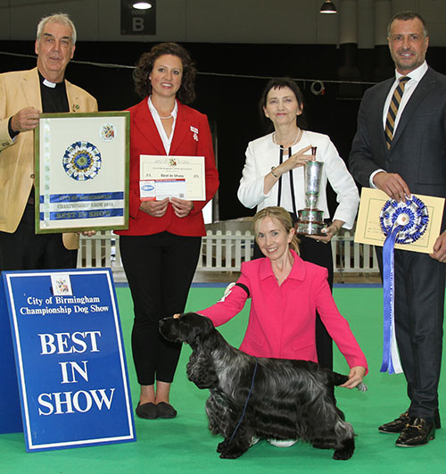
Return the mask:
[[[368,370],[366,356],[351,332],[348,321],[337,309],[326,278],[316,283],[316,309],[328,334],[333,338],[349,367],[360,365]]]

